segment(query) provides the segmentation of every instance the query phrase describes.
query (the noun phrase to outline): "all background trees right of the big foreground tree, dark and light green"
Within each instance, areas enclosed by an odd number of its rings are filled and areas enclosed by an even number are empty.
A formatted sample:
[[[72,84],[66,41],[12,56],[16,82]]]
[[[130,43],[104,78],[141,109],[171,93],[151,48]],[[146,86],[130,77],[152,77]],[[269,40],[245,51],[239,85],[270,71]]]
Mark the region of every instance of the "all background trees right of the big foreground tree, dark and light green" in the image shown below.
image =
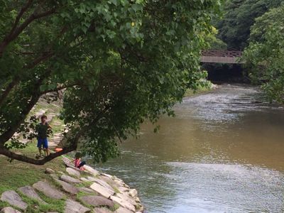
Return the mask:
[[[271,102],[284,103],[284,1],[227,0],[223,11],[221,21],[213,20],[217,38],[228,50],[244,50],[251,82]]]

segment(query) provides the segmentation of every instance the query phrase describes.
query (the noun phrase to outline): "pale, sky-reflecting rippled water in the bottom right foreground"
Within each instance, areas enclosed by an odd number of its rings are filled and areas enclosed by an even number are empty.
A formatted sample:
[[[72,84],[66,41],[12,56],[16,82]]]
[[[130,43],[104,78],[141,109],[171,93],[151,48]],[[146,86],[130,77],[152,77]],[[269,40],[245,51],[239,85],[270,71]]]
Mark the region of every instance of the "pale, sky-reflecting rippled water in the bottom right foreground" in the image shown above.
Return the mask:
[[[284,175],[251,165],[168,163],[178,197],[168,212],[282,212]],[[180,174],[180,175],[178,175]],[[172,185],[173,187],[173,185]]]

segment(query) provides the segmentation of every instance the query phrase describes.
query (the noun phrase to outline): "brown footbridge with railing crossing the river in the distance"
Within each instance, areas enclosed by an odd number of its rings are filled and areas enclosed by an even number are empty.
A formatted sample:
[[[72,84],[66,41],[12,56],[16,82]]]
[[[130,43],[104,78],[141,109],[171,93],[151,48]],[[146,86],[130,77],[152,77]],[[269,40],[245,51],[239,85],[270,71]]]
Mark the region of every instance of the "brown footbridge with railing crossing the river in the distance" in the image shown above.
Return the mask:
[[[241,51],[230,50],[202,50],[201,62],[241,64]]]

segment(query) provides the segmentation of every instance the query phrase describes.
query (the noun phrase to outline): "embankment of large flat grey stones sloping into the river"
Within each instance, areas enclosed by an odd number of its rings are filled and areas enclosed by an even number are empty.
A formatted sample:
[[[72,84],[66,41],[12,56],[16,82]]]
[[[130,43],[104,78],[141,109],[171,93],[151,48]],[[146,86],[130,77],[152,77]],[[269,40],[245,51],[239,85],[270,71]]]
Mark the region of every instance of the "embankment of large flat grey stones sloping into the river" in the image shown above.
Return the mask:
[[[82,171],[74,168],[68,158],[63,157],[62,160],[67,166],[65,173],[48,168],[45,170],[47,178],[44,180],[20,187],[18,190],[3,192],[0,200],[5,202],[7,207],[2,208],[0,212],[31,212],[30,209],[37,209],[37,204],[45,205],[49,213],[58,212],[48,208],[50,200],[64,202],[64,213],[143,212],[137,191],[119,178],[99,173],[88,165],[84,165],[85,170]],[[27,200],[33,202],[25,202]]]

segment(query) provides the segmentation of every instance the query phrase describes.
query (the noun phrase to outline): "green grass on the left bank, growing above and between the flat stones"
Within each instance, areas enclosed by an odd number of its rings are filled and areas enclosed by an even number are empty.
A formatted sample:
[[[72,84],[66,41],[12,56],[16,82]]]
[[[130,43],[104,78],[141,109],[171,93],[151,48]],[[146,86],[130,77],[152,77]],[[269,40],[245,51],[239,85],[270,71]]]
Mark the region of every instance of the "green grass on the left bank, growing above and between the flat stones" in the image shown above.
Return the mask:
[[[26,148],[14,149],[13,151],[21,152],[23,155],[34,158],[38,153],[38,148],[36,147],[35,141],[33,141],[32,143],[29,143]],[[18,191],[19,187],[26,185],[31,186],[40,180],[48,181],[51,185],[56,185],[56,182],[53,180],[53,178],[51,178],[50,175],[46,175],[44,172],[45,168],[52,168],[57,172],[65,172],[66,168],[62,163],[61,157],[55,158],[45,165],[31,165],[18,160],[13,160],[11,163],[9,163],[7,159],[8,158],[5,156],[0,155],[0,168],[2,169],[2,173],[0,175],[0,195],[6,190],[15,190],[19,195],[21,195],[23,201],[28,203],[28,209],[26,212],[63,212],[65,200],[53,200],[43,195],[43,193],[38,192],[38,195],[40,195],[40,197],[48,203],[43,204],[38,202],[38,200],[33,200],[29,197],[26,197]],[[0,202],[0,209],[7,206],[11,205],[6,202]],[[17,208],[15,207],[15,209]]]

